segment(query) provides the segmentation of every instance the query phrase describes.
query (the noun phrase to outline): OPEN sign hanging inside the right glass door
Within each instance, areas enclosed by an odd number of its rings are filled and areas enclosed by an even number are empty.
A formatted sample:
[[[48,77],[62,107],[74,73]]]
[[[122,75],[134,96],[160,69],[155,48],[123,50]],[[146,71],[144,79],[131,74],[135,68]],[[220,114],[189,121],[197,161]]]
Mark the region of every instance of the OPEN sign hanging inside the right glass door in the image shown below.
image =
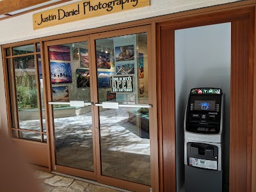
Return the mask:
[[[111,76],[111,92],[112,93],[133,93],[133,77],[134,76]]]

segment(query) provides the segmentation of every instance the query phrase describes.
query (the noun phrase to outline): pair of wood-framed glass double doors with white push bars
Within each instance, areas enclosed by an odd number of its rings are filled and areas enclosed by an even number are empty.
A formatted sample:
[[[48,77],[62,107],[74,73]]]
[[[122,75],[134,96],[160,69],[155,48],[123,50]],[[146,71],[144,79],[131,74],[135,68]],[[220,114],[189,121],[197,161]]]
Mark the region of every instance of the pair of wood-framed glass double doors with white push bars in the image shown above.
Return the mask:
[[[52,170],[131,191],[157,191],[150,29],[45,43]]]

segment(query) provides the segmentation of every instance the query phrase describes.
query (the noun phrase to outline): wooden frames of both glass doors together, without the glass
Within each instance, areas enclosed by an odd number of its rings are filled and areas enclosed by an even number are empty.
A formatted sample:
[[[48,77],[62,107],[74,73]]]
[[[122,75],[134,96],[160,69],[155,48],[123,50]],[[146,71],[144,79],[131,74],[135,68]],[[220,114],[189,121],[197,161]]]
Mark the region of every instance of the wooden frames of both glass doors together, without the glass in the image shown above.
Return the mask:
[[[136,33],[147,33],[148,35],[148,102],[154,106],[152,108],[152,112],[149,114],[150,116],[150,151],[151,154],[151,186],[145,186],[143,184],[137,184],[134,182],[129,182],[126,180],[121,179],[113,179],[110,177],[106,177],[101,175],[101,168],[100,168],[100,132],[99,132],[99,107],[92,106],[92,113],[94,113],[93,116],[93,156],[94,161],[93,164],[95,164],[97,167],[95,167],[95,172],[89,173],[86,171],[77,170],[74,168],[67,168],[65,166],[56,165],[56,168],[58,168],[58,172],[67,173],[70,174],[70,171],[72,171],[72,175],[76,175],[79,177],[86,177],[88,179],[98,180],[98,182],[101,182],[103,184],[109,184],[111,186],[116,186],[118,188],[127,188],[132,191],[149,191],[150,188],[152,188],[154,191],[158,191],[159,189],[159,180],[158,180],[158,148],[157,148],[157,121],[154,116],[156,116],[157,113],[157,105],[156,105],[156,86],[150,86],[156,84],[156,74],[154,74],[154,71],[156,71],[156,65],[154,65],[154,62],[152,61],[152,58],[154,57],[152,54],[152,44],[154,44],[152,40],[152,26],[140,26],[135,28],[130,28],[129,31],[127,29],[119,29],[116,31],[108,31],[104,33],[95,33],[93,35],[88,36],[77,36],[73,38],[64,38],[60,40],[52,40],[49,42],[44,42],[44,54],[45,54],[45,75],[47,79],[47,89],[51,88],[51,77],[50,77],[50,68],[49,68],[49,55],[48,55],[48,47],[51,45],[62,45],[62,44],[68,44],[73,42],[82,42],[82,41],[88,41],[88,50],[90,52],[90,71],[92,72],[92,81],[90,81],[90,87],[91,87],[91,101],[93,103],[99,102],[98,97],[98,90],[97,90],[97,68],[96,68],[96,60],[95,60],[95,44],[93,43],[95,40],[99,38],[109,38],[109,37],[115,37],[115,36],[122,36],[122,35],[132,35]],[[150,69],[150,70],[149,70]],[[47,90],[47,101],[51,100],[51,92]],[[54,165],[56,162],[55,154],[54,154],[54,122],[53,122],[53,113],[52,113],[52,107],[47,104],[48,113],[49,113],[49,136],[51,137],[51,165],[52,170],[54,170]],[[97,149],[96,149],[97,148]],[[84,172],[86,172],[86,175],[84,175]]]

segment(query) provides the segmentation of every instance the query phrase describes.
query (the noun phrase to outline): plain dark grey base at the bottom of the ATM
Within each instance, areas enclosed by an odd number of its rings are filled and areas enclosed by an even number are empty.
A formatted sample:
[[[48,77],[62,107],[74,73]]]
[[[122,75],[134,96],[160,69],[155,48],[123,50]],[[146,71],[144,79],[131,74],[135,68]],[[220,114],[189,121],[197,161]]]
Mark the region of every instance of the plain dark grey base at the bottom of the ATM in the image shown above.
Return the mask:
[[[185,192],[221,192],[222,173],[185,165]]]

